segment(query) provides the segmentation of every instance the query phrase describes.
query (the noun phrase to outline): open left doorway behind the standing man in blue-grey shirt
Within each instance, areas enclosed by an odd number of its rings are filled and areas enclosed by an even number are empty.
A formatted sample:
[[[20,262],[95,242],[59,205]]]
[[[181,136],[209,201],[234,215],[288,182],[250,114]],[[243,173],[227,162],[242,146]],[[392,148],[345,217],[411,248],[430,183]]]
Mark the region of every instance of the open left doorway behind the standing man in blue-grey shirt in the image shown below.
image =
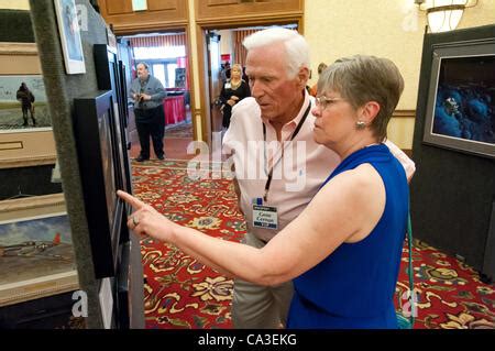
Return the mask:
[[[193,120],[190,103],[190,72],[187,54],[186,31],[141,33],[118,37],[121,59],[127,67],[127,83],[136,78],[136,65],[144,62],[150,74],[157,78],[167,92],[163,107],[165,114],[164,147],[167,158],[189,158],[187,144],[193,141]],[[129,99],[129,139],[131,157],[140,153],[135,128],[133,101]],[[151,147],[153,150],[153,147]]]

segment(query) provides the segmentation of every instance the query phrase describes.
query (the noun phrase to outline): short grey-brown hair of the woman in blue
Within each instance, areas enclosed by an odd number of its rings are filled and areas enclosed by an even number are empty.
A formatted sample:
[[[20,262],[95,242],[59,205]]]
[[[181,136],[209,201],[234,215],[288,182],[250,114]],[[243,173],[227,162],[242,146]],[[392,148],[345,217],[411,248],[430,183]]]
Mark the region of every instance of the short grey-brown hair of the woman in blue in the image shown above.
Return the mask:
[[[371,123],[375,136],[387,136],[387,124],[404,90],[404,78],[388,58],[355,55],[337,59],[318,80],[318,91],[338,91],[355,109],[369,101],[380,105]]]

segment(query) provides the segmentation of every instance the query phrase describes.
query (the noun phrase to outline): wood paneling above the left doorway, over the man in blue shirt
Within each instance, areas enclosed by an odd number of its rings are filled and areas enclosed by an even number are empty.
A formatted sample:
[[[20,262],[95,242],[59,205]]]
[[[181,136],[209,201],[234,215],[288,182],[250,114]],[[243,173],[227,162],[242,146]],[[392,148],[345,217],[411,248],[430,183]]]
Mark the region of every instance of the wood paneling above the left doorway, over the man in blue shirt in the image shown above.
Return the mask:
[[[132,11],[131,0],[98,0],[101,15],[116,34],[177,29],[188,24],[187,1],[147,0],[146,11]]]

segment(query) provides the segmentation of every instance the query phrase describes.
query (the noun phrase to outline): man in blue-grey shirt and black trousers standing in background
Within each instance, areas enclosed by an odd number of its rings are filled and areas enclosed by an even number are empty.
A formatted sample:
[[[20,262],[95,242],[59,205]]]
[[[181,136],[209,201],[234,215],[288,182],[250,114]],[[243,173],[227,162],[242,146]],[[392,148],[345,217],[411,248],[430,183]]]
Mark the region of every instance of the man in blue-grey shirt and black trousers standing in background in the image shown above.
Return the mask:
[[[135,127],[140,138],[141,152],[138,162],[150,160],[150,136],[158,160],[165,158],[163,138],[165,135],[165,114],[163,99],[166,91],[162,83],[150,75],[147,64],[136,66],[138,78],[131,84],[131,98],[134,100]]]

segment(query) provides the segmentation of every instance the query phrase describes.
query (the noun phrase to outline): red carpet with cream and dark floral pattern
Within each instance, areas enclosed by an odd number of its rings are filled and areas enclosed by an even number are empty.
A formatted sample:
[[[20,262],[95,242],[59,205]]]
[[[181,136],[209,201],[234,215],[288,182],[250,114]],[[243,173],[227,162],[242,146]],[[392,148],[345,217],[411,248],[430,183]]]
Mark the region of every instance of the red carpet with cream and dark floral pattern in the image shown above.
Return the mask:
[[[217,172],[209,172],[209,179],[191,179],[186,166],[186,161],[169,160],[133,163],[134,193],[180,224],[239,241],[245,223],[232,183]],[[142,240],[142,254],[146,328],[232,328],[231,279],[148,238]],[[425,243],[415,242],[413,255],[418,292],[415,328],[495,328],[494,284],[483,284],[471,267]],[[407,250],[403,261],[397,308],[406,303],[399,296],[408,286]]]

